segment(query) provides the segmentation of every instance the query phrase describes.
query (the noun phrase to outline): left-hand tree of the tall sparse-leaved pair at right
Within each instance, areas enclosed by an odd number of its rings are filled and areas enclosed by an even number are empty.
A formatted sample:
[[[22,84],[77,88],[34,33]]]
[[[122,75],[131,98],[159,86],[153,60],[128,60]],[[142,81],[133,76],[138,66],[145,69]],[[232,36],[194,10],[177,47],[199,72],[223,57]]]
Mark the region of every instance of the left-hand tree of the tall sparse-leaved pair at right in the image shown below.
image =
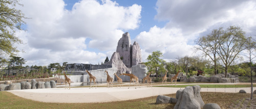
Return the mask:
[[[219,37],[224,33],[222,28],[218,30],[212,30],[210,34],[207,36],[199,37],[195,40],[195,43],[198,45],[196,46],[196,51],[203,51],[204,56],[209,57],[209,59],[214,63],[214,72],[217,74],[218,70],[218,48],[220,44],[218,43]]]

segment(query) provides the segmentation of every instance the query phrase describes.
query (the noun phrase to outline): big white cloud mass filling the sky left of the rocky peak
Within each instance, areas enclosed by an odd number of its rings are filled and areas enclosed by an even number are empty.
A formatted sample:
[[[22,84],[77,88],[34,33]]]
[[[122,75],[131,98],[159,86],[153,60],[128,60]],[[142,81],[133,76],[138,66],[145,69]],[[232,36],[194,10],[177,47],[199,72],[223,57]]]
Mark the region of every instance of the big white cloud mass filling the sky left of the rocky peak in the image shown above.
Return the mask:
[[[27,17],[27,32],[17,33],[25,45],[26,53],[19,56],[27,65],[50,63],[92,63],[105,60],[105,53],[113,51],[123,30],[139,27],[141,6],[119,6],[109,0],[100,4],[96,0],[82,0],[72,10],[65,9],[62,0],[21,1],[20,9]],[[86,40],[90,42],[86,43]],[[99,62],[101,63],[101,62]]]

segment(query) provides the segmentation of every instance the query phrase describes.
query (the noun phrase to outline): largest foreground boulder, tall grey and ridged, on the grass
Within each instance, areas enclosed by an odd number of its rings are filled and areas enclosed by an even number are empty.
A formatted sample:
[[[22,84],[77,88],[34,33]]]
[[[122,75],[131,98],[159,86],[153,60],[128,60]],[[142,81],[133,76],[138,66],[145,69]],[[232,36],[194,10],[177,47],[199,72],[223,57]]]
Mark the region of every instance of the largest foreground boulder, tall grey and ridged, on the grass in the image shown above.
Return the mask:
[[[204,106],[204,101],[200,95],[200,86],[187,86],[180,94],[174,108],[198,108]]]

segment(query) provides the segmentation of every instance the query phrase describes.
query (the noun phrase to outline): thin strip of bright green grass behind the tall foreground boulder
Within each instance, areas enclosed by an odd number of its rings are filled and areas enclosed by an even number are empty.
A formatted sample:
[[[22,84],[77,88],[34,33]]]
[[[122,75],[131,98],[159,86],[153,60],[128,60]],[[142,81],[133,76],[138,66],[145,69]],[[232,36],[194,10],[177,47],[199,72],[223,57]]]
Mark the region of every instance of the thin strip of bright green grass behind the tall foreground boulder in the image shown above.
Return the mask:
[[[177,85],[176,88],[185,88],[187,86],[195,86],[195,85]],[[199,85],[201,88],[248,88],[251,85]],[[153,86],[153,87],[175,87],[175,85],[170,86]],[[256,87],[256,85],[253,85]]]

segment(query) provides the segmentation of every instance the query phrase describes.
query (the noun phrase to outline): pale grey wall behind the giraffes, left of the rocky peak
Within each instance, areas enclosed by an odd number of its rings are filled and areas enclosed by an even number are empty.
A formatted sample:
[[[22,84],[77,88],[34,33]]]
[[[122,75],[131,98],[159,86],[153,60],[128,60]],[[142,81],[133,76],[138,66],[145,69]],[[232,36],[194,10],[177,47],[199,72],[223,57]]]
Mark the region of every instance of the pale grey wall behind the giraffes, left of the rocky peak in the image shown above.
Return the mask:
[[[107,68],[107,69],[98,69],[98,70],[90,70],[89,72],[96,77],[98,82],[106,82],[106,73],[105,70],[109,72],[109,75],[114,78],[114,73],[117,72],[115,68]],[[67,72],[68,74],[80,74],[80,75],[67,75],[72,82],[87,82],[90,81],[90,76],[86,71],[81,72]],[[65,79],[64,75],[57,75],[57,77]]]

